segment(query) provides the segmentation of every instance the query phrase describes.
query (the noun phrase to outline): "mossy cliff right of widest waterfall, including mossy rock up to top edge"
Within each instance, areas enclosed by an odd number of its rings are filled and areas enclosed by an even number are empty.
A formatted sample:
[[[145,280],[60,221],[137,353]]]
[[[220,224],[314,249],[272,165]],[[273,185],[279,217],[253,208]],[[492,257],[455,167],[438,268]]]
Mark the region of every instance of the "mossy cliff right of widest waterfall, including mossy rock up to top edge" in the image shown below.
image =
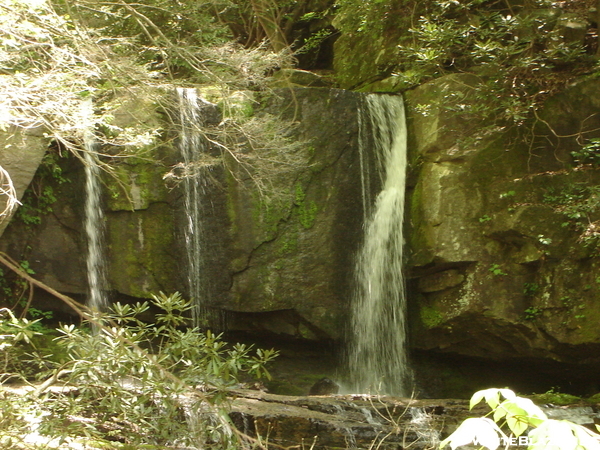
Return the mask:
[[[597,26],[597,8],[576,3],[575,9],[487,3],[471,10],[468,23],[493,11],[533,17],[552,30],[555,42],[581,45],[585,58],[597,57],[597,39],[587,34]],[[407,275],[417,378],[425,380],[425,390],[444,386],[434,395],[518,378],[529,390],[551,383],[597,390],[590,380],[600,365],[598,83],[592,75],[554,90],[562,92],[537,111],[533,125],[494,127],[469,115],[473,105],[486,108],[473,86],[503,81],[474,59],[461,66],[461,58],[474,53],[468,45],[438,60],[439,71],[428,66],[420,72],[417,60],[440,50],[429,38],[440,37],[450,23],[431,13],[436,4],[345,0],[334,22],[341,32],[334,49],[339,84],[404,91],[409,109]],[[424,23],[430,35],[420,28]],[[530,32],[527,20],[515,23],[517,41]],[[406,52],[415,45],[423,56]],[[577,67],[554,62],[542,77],[569,75]],[[465,380],[470,386],[460,387]]]

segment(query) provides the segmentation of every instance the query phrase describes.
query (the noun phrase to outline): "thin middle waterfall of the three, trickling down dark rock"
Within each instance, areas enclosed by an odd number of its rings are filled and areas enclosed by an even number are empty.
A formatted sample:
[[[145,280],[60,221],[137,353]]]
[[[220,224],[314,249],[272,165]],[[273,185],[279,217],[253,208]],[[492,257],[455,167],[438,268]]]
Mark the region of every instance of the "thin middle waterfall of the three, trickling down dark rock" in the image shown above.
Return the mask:
[[[194,304],[192,319],[195,326],[206,326],[209,310],[208,279],[206,277],[204,201],[206,180],[202,177],[201,164],[206,153],[206,139],[200,132],[202,123],[200,104],[194,88],[178,88],[179,120],[181,132],[179,149],[183,157],[183,193],[186,213],[185,243],[187,249],[187,270],[189,296]]]

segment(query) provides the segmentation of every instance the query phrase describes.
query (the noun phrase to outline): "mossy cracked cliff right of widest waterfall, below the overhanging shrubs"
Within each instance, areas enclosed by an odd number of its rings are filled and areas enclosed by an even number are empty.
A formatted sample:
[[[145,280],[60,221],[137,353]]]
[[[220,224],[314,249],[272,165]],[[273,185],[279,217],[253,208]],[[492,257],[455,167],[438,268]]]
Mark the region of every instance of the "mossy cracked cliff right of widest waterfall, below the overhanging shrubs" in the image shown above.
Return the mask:
[[[468,90],[463,81],[424,85],[408,103]],[[576,363],[575,379],[598,367],[599,172],[571,157],[596,136],[598,87],[585,81],[555,97],[529,141],[411,110],[414,349],[542,372],[556,369],[543,361]]]

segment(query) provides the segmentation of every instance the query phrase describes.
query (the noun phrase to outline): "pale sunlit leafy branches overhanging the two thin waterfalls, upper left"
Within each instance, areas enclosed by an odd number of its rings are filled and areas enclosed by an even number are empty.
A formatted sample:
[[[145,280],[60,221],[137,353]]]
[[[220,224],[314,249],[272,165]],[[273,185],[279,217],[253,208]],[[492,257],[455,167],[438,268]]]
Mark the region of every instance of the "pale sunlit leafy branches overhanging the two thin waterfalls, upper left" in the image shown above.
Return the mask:
[[[125,89],[168,110],[164,91],[174,84],[203,83],[212,86],[212,100],[224,102],[227,113],[236,91],[265,89],[266,75],[288,65],[290,55],[266,46],[244,49],[226,39],[228,27],[215,12],[225,6],[216,1],[5,2],[0,5],[0,129],[39,130],[75,155],[93,130],[114,158],[139,155],[140,149],[158,145],[162,134],[154,123],[115,123]],[[94,101],[92,111],[83,106],[86,98]],[[262,130],[246,129],[247,119],[230,117],[222,132],[238,136],[231,142],[244,135],[258,140]]]

